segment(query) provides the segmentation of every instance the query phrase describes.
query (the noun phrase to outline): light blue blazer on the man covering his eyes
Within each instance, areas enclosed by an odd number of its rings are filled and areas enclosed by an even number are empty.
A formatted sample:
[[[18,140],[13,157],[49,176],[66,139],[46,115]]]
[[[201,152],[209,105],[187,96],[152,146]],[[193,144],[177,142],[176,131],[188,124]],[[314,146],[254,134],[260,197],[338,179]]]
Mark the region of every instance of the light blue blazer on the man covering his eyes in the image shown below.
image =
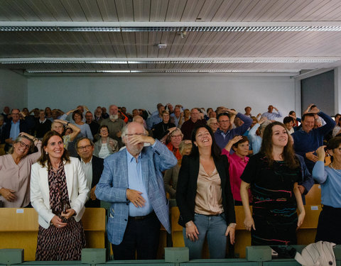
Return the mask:
[[[141,151],[141,167],[148,182],[147,193],[151,206],[168,233],[171,233],[168,200],[166,199],[162,173],[178,163],[173,153],[156,140],[155,145]],[[121,150],[104,159],[104,170],[95,194],[97,199],[111,202],[107,223],[108,238],[114,245],[122,242],[129,216],[128,166],[126,150]]]

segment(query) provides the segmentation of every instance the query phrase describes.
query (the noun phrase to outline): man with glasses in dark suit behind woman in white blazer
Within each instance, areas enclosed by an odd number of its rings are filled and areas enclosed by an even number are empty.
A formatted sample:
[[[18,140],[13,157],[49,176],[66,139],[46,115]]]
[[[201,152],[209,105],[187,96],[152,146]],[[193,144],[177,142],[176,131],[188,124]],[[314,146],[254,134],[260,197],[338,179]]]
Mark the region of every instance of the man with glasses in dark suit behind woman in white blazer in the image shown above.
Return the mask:
[[[99,182],[103,171],[103,159],[93,156],[94,143],[89,138],[79,138],[76,143],[77,153],[80,155],[80,164],[87,179],[87,187],[90,189],[90,199],[85,204],[86,208],[99,208],[101,202],[96,198],[94,189]]]

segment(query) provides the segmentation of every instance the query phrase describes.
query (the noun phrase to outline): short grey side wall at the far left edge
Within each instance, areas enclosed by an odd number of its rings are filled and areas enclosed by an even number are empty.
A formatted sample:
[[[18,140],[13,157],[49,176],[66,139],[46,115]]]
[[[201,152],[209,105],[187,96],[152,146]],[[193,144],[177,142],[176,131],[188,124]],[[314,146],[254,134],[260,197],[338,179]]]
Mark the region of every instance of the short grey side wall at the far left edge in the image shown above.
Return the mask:
[[[4,106],[27,107],[27,79],[11,70],[0,70],[0,113]]]

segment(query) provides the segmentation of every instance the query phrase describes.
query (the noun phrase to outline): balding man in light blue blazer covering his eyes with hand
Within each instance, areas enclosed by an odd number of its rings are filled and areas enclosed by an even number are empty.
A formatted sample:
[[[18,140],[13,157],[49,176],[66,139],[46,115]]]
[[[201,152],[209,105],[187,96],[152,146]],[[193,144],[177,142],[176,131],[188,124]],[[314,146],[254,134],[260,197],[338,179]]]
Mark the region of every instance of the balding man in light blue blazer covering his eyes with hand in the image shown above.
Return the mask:
[[[153,260],[160,222],[171,232],[161,172],[178,161],[165,145],[146,135],[141,123],[129,123],[121,138],[126,149],[104,160],[95,194],[112,203],[107,232],[114,259],[134,260],[137,251],[138,260]]]

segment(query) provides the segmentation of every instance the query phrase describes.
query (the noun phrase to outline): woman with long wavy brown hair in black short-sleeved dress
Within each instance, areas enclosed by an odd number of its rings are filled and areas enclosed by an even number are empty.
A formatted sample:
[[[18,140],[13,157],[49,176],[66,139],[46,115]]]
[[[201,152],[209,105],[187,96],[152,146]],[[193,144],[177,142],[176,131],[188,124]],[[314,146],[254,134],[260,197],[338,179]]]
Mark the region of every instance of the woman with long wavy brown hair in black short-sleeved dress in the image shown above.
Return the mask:
[[[251,231],[251,245],[295,245],[296,228],[305,216],[298,182],[300,162],[288,131],[280,122],[266,126],[260,153],[252,156],[242,174],[240,195],[244,226]],[[252,194],[252,215],[248,189]],[[296,208],[300,214],[296,214]]]

